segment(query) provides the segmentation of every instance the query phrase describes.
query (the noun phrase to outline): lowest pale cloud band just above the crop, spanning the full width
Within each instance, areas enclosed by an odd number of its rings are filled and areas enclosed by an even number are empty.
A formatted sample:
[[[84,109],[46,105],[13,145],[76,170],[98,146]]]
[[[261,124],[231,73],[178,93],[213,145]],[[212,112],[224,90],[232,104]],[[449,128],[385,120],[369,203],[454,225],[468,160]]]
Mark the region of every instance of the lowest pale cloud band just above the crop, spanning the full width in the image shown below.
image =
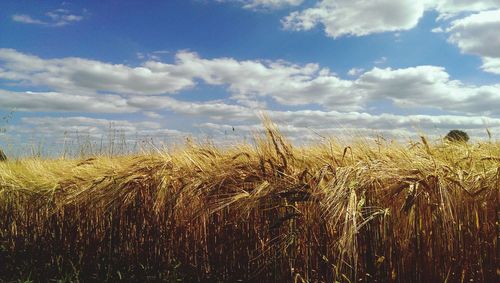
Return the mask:
[[[295,142],[318,140],[317,134],[345,136],[348,139],[355,138],[353,134],[358,137],[382,134],[387,138],[406,139],[418,135],[420,130],[431,136],[442,136],[450,129],[456,128],[467,131],[473,137],[485,137],[486,127],[492,130],[494,135],[498,136],[497,131],[500,132],[500,119],[484,116],[374,115],[363,112],[320,110],[268,111],[267,113],[280,125],[281,131]],[[228,124],[228,121],[232,124]],[[235,138],[239,137],[231,140],[241,141],[241,137],[251,137],[252,132],[262,129],[256,115],[248,116],[243,120],[232,120],[230,116],[225,116],[224,119],[216,122],[197,124],[197,127],[203,134],[208,134],[216,141],[226,139],[226,134]],[[166,129],[158,122],[133,122],[84,116],[24,117],[21,118],[20,124],[10,127],[8,131],[21,135],[36,134],[36,141],[39,141],[40,137],[45,137],[52,145],[60,144],[64,137],[70,140],[84,137],[95,142],[103,138],[108,139],[110,135],[123,134],[123,138],[131,141],[154,138],[160,141],[168,139],[178,142],[188,135],[186,132]],[[215,133],[210,134],[211,131]]]

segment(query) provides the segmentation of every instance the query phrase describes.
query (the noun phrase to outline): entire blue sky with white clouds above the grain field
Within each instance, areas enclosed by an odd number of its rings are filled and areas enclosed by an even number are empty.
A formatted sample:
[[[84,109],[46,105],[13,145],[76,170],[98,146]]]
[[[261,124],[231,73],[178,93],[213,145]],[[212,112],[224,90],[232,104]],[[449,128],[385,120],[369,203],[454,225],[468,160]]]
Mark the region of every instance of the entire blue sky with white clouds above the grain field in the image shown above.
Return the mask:
[[[262,113],[297,143],[500,138],[498,31],[500,0],[3,0],[0,144],[234,141]]]

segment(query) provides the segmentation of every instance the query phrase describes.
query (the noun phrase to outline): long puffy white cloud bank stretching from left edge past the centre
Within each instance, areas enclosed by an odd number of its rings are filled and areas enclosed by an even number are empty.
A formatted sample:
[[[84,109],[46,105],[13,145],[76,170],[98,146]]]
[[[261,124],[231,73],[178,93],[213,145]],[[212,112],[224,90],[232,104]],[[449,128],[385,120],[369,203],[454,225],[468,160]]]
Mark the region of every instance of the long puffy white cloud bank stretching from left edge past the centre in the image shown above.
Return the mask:
[[[285,105],[320,102],[344,110],[358,109],[361,102],[359,95],[349,93],[352,82],[314,63],[203,59],[180,51],[174,64],[148,61],[130,67],[82,58],[41,59],[12,49],[0,49],[0,63],[2,79],[73,94],[172,94],[194,87],[198,79],[227,86],[233,99],[256,107],[259,97],[271,97]]]

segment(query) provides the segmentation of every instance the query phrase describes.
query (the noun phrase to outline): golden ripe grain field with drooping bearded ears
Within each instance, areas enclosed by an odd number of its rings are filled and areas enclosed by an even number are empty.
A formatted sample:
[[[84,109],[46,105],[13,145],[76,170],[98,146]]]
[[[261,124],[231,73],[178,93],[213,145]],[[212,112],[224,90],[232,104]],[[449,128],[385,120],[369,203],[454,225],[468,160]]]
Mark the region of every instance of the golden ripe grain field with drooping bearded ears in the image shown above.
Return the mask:
[[[267,129],[255,145],[0,163],[0,278],[498,279],[500,144],[295,148]]]

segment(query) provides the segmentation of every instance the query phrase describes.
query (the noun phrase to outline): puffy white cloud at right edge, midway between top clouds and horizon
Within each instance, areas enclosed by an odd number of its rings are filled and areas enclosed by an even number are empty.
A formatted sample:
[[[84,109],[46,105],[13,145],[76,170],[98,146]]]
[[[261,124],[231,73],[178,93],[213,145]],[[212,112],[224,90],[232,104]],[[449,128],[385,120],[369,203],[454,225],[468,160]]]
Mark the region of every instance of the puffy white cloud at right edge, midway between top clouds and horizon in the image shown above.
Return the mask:
[[[431,107],[457,113],[500,115],[500,84],[474,86],[450,79],[442,67],[374,68],[359,77],[357,89],[369,100],[390,99],[400,107]]]

